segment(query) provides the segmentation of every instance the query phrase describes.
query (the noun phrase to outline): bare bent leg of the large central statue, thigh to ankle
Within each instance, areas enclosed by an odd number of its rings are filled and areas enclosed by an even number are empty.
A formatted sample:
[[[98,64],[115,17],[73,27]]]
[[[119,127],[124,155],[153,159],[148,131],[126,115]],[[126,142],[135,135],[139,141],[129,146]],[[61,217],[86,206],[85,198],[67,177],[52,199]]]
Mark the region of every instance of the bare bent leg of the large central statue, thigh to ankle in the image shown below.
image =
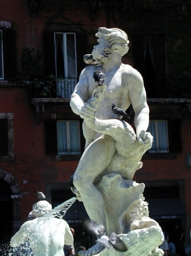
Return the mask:
[[[93,182],[110,164],[115,151],[112,137],[105,135],[95,140],[84,151],[73,178],[90,219],[104,226],[103,197]]]

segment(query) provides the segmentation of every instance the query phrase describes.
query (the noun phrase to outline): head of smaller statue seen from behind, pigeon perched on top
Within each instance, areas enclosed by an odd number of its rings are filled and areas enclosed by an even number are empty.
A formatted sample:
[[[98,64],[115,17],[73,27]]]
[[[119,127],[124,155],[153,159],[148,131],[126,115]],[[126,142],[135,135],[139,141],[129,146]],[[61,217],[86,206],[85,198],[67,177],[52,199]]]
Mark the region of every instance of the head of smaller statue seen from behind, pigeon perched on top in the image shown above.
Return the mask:
[[[32,215],[35,218],[41,217],[52,210],[52,205],[46,200],[39,201],[32,206]]]

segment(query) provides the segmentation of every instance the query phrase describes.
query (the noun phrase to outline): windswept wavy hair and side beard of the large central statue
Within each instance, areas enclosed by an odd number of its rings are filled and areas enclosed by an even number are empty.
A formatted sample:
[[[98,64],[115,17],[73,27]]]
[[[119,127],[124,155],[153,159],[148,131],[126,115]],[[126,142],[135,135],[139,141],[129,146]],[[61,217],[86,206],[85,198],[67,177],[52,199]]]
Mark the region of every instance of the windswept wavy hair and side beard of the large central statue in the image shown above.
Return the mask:
[[[118,52],[121,56],[129,50],[129,40],[127,34],[119,28],[98,28],[96,36],[98,42],[105,41],[103,55],[100,56],[101,62],[108,61],[112,52]]]

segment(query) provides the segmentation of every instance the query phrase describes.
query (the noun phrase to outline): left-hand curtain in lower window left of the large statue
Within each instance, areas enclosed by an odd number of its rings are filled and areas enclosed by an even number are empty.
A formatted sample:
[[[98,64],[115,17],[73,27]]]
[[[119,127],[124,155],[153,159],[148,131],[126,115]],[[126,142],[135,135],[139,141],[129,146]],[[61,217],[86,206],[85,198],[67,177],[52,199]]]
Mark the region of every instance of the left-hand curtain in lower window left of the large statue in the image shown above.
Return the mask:
[[[67,153],[66,121],[57,121],[58,154]]]

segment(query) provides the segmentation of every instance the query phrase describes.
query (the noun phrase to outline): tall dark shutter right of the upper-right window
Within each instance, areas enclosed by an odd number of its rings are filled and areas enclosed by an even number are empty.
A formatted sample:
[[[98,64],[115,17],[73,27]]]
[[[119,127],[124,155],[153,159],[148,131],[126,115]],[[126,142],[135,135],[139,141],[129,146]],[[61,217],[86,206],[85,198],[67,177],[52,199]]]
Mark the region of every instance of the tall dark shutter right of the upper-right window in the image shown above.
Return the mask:
[[[167,79],[164,36],[155,35],[153,42],[156,96],[157,98],[165,98],[167,95]]]

